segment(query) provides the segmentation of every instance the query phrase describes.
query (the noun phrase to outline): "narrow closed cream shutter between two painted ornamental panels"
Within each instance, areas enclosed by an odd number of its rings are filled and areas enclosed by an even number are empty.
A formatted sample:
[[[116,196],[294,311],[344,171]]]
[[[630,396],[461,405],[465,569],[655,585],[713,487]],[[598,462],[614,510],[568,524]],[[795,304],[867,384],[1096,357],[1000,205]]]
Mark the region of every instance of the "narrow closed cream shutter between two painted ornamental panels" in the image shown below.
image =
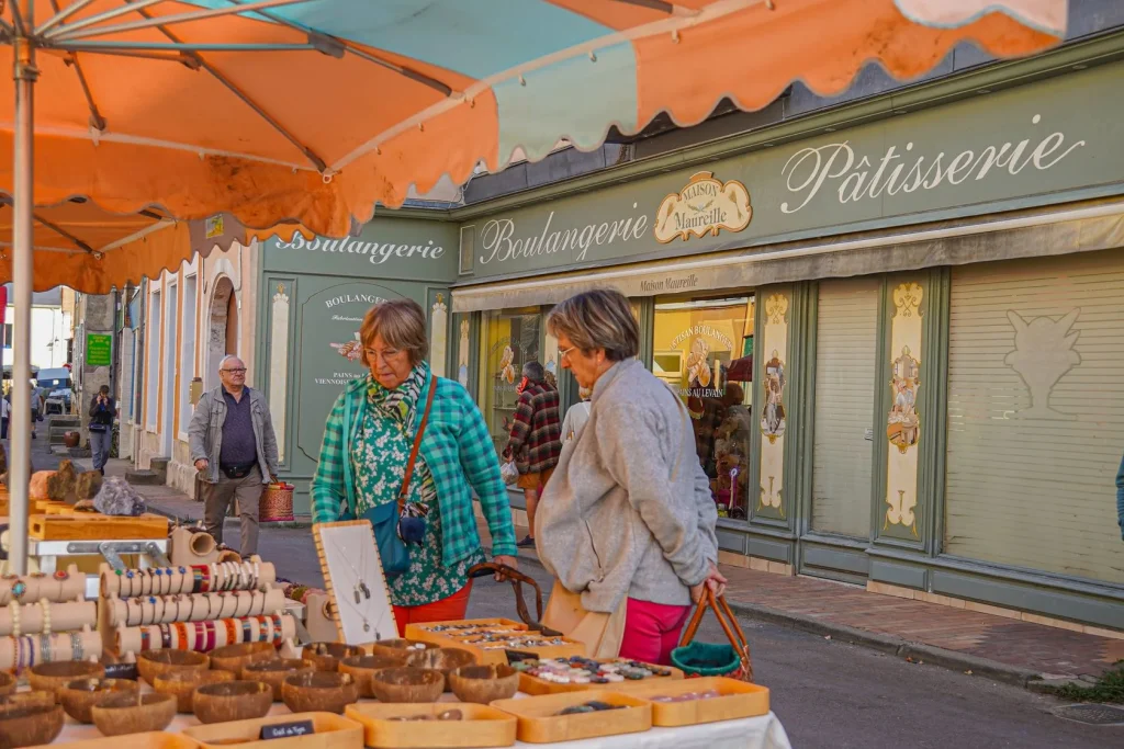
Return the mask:
[[[870,463],[877,441],[877,278],[819,284],[816,314],[815,462],[812,528],[858,538],[870,536]]]

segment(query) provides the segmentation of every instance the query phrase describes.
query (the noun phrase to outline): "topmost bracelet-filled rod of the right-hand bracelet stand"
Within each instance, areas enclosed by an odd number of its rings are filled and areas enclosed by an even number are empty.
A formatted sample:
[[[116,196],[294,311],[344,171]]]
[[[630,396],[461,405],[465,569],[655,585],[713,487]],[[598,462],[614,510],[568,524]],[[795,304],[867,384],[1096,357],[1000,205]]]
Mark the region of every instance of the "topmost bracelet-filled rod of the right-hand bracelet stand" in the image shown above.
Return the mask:
[[[277,582],[271,561],[253,556],[246,561],[212,561],[206,565],[114,569],[101,566],[101,594],[107,599],[181,593],[266,591]]]

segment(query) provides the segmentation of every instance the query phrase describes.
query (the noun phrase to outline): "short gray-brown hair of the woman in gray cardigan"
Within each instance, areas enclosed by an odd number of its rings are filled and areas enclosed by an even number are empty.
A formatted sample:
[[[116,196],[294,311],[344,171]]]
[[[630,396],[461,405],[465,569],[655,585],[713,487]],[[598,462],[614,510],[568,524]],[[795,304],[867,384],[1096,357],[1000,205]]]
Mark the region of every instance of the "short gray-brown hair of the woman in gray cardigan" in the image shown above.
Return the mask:
[[[546,329],[555,337],[564,335],[584,354],[604,348],[610,362],[640,353],[640,326],[619,291],[597,289],[571,296],[551,310]]]

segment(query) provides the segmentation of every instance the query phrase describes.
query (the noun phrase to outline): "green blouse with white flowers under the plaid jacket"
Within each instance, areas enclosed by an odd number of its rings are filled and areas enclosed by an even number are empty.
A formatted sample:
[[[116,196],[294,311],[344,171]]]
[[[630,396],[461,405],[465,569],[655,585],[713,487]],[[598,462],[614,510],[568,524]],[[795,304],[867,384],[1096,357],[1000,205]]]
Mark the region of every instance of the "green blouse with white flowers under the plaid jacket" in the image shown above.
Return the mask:
[[[424,366],[414,368],[406,382],[387,390],[368,375],[366,410],[351,454],[355,476],[357,514],[398,501],[406,464],[414,446],[414,414],[425,384]],[[424,404],[423,404],[424,407]],[[390,602],[396,606],[420,606],[453,595],[468,582],[468,570],[484,560],[483,552],[446,567],[442,558],[441,504],[429,467],[419,454],[407,502],[428,508],[422,546],[409,547],[409,568],[389,578]]]

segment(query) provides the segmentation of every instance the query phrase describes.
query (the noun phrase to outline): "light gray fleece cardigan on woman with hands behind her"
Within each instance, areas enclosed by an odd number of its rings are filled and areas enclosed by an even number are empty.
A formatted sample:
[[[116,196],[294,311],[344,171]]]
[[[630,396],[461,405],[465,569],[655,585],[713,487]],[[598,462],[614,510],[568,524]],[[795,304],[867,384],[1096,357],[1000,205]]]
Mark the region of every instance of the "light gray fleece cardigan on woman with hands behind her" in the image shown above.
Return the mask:
[[[635,359],[602,374],[591,403],[538,503],[540,558],[588,611],[690,605],[718,559],[718,512],[687,407]]]

